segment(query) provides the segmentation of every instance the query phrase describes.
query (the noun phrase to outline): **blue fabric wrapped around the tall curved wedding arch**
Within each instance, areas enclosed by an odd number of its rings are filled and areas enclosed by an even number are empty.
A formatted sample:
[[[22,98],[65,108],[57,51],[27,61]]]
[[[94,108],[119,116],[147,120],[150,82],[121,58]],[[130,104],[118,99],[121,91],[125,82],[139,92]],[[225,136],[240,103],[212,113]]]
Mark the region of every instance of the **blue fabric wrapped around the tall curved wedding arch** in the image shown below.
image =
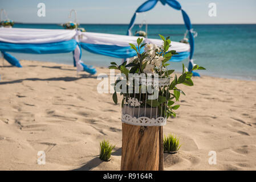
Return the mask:
[[[191,32],[192,24],[190,23],[190,19],[189,19],[188,14],[186,14],[186,12],[181,9],[180,3],[176,0],[159,0],[159,1],[162,3],[162,5],[168,4],[173,9],[181,10],[182,17],[183,17],[183,20],[184,20],[184,23],[185,23],[185,27],[189,31],[189,45],[190,45],[189,59],[191,60],[192,57],[193,57],[193,53],[194,53],[194,37],[193,37],[193,34]],[[153,9],[153,7],[155,7],[157,2],[158,2],[158,0],[146,1],[136,10],[135,14],[132,16],[131,22],[129,23],[127,35],[130,35],[129,32],[131,32],[131,28],[133,27],[133,25],[135,23],[136,13],[142,13],[142,12],[149,11],[149,10]],[[190,64],[192,65],[191,61],[189,61],[189,71],[191,71],[191,69],[192,69],[192,68],[190,68],[191,67]],[[198,73],[193,73],[193,75],[194,76],[199,76]]]

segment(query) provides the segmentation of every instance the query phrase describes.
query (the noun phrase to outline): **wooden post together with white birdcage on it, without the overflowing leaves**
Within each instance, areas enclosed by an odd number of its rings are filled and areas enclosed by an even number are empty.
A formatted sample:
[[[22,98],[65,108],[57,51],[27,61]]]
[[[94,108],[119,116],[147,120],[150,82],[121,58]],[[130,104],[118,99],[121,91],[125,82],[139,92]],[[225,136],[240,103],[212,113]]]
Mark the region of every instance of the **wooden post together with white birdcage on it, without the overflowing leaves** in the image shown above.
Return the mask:
[[[122,104],[121,170],[163,170],[162,126],[166,124],[170,78],[134,79],[139,83],[133,87],[135,94],[124,94]],[[140,91],[136,94],[135,90]],[[157,94],[155,100],[152,90]]]

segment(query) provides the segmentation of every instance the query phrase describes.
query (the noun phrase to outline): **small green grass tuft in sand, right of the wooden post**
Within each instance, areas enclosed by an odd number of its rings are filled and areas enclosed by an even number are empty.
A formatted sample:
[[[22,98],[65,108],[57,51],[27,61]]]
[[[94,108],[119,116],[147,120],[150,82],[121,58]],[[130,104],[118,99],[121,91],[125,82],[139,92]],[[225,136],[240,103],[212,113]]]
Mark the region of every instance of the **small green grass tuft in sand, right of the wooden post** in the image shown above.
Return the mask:
[[[178,138],[169,134],[168,137],[164,135],[164,151],[168,153],[177,152],[180,149],[180,141]]]

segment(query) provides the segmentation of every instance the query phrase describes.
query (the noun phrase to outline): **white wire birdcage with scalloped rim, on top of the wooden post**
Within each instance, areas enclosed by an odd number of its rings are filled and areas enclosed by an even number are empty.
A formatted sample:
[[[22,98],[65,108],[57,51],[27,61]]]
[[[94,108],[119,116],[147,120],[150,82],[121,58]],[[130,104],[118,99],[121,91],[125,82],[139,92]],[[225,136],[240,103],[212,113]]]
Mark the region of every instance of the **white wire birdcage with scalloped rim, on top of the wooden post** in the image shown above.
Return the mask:
[[[134,82],[137,80],[139,84],[133,84],[129,89],[133,92],[123,94],[121,121],[138,126],[164,126],[170,78],[135,77],[134,79]],[[160,97],[165,98],[161,104],[159,104]],[[157,104],[154,106],[153,102]]]

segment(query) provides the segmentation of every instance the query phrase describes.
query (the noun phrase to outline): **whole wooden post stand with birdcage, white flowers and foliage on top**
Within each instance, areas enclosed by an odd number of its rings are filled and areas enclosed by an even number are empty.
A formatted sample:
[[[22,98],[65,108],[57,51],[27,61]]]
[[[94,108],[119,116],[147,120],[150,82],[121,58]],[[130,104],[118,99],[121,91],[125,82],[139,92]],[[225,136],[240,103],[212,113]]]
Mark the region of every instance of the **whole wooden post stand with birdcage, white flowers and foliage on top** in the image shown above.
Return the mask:
[[[148,43],[138,38],[137,45],[130,43],[137,56],[127,63],[111,63],[109,69],[121,73],[115,81],[113,101],[117,104],[117,93],[122,98],[122,155],[121,170],[163,170],[162,127],[169,117],[176,117],[174,105],[182,90],[178,84],[193,85],[192,71],[205,69],[194,65],[191,71],[182,65],[182,74],[172,75],[168,61],[177,55],[169,50],[171,41],[160,35],[161,45]]]

